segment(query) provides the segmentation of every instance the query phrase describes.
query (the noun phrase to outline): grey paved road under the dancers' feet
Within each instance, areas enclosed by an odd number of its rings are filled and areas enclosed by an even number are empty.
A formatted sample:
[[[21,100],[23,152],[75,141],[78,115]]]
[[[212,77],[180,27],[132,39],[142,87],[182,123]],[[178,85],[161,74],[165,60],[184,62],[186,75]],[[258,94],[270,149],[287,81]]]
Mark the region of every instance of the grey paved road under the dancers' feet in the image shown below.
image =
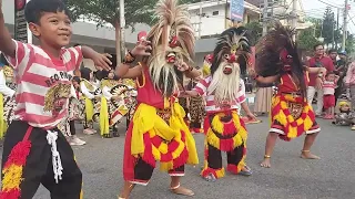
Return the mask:
[[[355,132],[346,127],[335,127],[320,119],[323,128],[313,151],[321,160],[298,158],[303,137],[291,143],[278,142],[273,155],[273,167],[258,166],[264,154],[268,122],[248,125],[247,163],[254,170],[252,177],[233,176],[216,182],[207,182],[199,177],[200,166],[186,168],[183,185],[192,188],[203,199],[354,199],[355,198]],[[124,132],[122,126],[121,132]],[[122,156],[124,137],[102,139],[98,135],[80,136],[88,142],[83,147],[74,147],[79,165],[83,171],[85,199],[115,199],[122,180]],[[203,160],[203,135],[194,135],[200,160]],[[148,187],[136,187],[134,199],[174,199],[168,190],[168,175],[156,170]],[[48,199],[42,187],[36,199]]]

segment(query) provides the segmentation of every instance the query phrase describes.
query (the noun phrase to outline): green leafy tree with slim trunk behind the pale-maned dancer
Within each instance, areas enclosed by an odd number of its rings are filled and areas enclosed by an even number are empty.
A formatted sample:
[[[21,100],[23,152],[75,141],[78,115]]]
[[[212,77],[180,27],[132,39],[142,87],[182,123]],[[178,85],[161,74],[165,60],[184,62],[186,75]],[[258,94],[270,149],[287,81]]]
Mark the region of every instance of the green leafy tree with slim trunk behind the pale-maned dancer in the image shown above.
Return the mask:
[[[196,0],[182,0],[183,3],[194,1]],[[116,40],[116,59],[118,62],[121,61],[119,0],[65,0],[65,3],[70,8],[74,20],[91,20],[97,23],[98,28],[103,27],[105,23],[113,25]],[[125,0],[125,25],[132,27],[134,30],[134,24],[136,23],[152,24],[156,3],[158,0]]]

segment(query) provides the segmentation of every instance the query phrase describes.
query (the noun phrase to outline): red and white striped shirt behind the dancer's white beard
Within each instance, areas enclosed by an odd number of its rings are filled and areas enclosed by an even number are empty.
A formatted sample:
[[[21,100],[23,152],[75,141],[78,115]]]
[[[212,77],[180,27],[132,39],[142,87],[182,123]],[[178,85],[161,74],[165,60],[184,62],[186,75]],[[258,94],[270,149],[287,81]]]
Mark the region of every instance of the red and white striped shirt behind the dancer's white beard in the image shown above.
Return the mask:
[[[197,85],[193,88],[200,95],[205,95],[205,101],[206,101],[205,111],[206,112],[213,113],[213,112],[221,112],[221,111],[239,109],[240,104],[245,102],[245,100],[246,100],[245,85],[244,85],[244,81],[242,78],[240,81],[240,91],[237,92],[237,96],[236,96],[235,101],[227,103],[229,106],[217,105],[214,101],[214,95],[207,94],[207,88],[209,88],[211,82],[212,82],[212,76],[207,76],[207,77],[201,80],[197,83]]]

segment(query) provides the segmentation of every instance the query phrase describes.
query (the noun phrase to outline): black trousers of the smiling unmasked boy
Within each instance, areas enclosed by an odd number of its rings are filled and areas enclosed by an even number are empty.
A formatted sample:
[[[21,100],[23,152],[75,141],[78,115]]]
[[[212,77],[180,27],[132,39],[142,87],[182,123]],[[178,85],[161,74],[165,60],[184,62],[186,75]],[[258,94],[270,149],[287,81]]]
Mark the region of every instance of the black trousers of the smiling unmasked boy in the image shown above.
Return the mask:
[[[13,147],[23,140],[28,129],[31,128],[26,122],[13,121],[11,123],[3,143],[2,169]],[[52,199],[81,198],[82,174],[74,160],[73,150],[59,129],[54,128],[52,132],[58,132],[57,149],[63,167],[62,180],[59,180],[59,184],[54,180],[52,151],[47,140],[47,130],[33,127],[30,134],[28,134],[31,148],[27,163],[23,166],[23,180],[20,184],[21,197],[19,199],[32,199],[40,184],[50,191]],[[6,174],[1,176],[2,182],[4,182],[4,176]],[[0,198],[1,195],[4,195],[6,186],[2,184]]]

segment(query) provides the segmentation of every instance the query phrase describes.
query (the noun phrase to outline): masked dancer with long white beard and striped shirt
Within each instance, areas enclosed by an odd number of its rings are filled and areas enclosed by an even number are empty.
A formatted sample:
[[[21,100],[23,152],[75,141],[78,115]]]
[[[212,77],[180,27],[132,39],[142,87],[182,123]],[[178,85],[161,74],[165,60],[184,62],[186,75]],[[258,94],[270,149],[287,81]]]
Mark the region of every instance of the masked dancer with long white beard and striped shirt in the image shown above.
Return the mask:
[[[206,95],[205,160],[201,175],[207,181],[224,176],[221,151],[227,154],[230,172],[252,175],[245,165],[247,132],[237,113],[239,105],[242,105],[247,115],[253,115],[247,107],[245,85],[241,78],[250,54],[246,29],[240,27],[224,31],[213,54],[211,75],[200,81],[193,91],[186,92],[191,96]]]

